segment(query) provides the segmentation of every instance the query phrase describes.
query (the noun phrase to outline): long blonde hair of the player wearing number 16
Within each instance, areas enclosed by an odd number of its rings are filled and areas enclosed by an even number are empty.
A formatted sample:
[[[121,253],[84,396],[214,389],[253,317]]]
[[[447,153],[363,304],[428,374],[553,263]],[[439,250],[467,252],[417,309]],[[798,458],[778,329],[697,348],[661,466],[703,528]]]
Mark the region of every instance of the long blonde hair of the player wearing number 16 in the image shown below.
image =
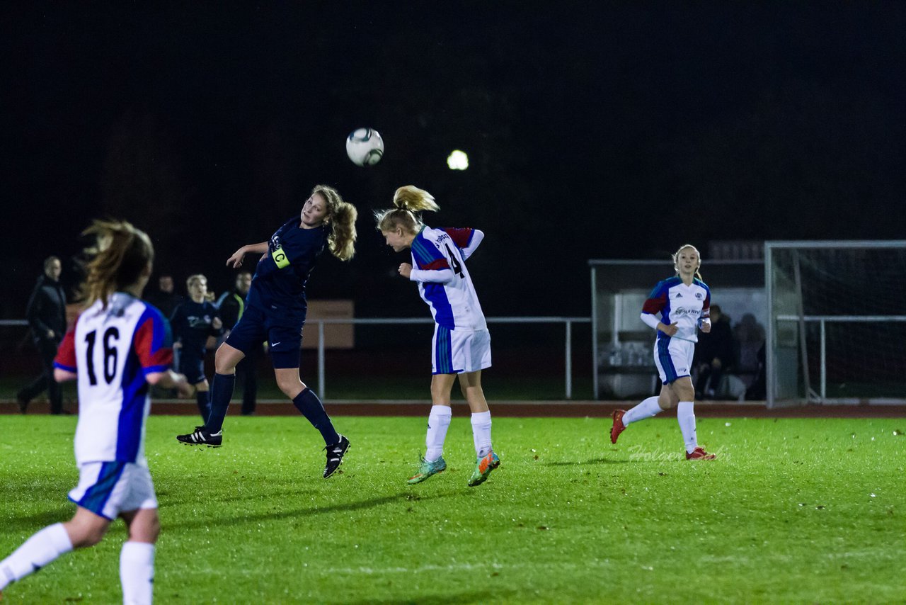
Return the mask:
[[[139,281],[154,261],[154,246],[148,234],[125,220],[94,220],[82,235],[95,236],[95,245],[85,249],[91,260],[88,275],[79,291],[85,306],[101,300],[103,308],[117,290]]]

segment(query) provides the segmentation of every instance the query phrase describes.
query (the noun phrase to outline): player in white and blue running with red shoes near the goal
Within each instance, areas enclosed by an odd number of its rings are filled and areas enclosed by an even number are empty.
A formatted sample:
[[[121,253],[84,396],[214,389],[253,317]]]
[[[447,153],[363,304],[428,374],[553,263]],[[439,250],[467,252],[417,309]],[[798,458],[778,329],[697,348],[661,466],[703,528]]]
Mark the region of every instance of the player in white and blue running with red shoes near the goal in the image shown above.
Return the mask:
[[[611,443],[629,424],[651,418],[661,410],[677,408],[677,421],[686,446],[687,460],[713,460],[699,446],[695,432],[695,387],[690,372],[699,328],[710,332],[711,290],[699,274],[699,250],[689,244],[673,255],[677,275],[658,282],[641,307],[641,320],[657,330],[654,342],[654,365],[658,368],[663,386],[660,395],[649,397],[628,412],[613,411]],[[659,318],[660,316],[660,318]]]

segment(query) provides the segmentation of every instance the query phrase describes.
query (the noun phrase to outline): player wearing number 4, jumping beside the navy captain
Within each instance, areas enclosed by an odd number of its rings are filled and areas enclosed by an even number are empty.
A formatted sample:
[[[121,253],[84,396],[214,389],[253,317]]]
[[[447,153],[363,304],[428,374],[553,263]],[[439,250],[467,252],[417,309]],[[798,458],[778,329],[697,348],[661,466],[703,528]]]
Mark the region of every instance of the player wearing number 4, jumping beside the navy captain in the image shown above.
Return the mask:
[[[375,213],[378,230],[394,251],[411,250],[412,263],[402,263],[400,275],[419,285],[435,323],[427,452],[409,483],[420,483],[447,468],[443,445],[452,418],[450,390],[458,378],[472,411],[477,455],[468,485],[479,485],[500,464],[491,445],[491,412],[481,388],[481,371],[491,366],[491,336],[466,268],[466,259],[485,235],[477,229],[432,229],[422,223],[416,213],[439,206],[428,191],[412,185],[396,190],[393,205]]]

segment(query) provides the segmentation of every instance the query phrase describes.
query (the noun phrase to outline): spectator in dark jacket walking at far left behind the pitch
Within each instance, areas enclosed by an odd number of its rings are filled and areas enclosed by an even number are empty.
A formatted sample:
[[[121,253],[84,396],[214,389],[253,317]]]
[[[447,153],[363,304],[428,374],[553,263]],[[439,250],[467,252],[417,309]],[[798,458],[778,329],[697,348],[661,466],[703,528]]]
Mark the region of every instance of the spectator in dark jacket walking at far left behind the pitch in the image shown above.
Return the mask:
[[[32,328],[34,346],[41,356],[41,376],[25,386],[15,395],[19,411],[23,414],[28,403],[46,389],[51,401],[51,414],[63,414],[63,394],[60,385],[53,379],[53,357],[66,334],[66,294],[60,285],[63,265],[56,257],[44,260],[43,275],[34,285],[28,299],[28,325]]]

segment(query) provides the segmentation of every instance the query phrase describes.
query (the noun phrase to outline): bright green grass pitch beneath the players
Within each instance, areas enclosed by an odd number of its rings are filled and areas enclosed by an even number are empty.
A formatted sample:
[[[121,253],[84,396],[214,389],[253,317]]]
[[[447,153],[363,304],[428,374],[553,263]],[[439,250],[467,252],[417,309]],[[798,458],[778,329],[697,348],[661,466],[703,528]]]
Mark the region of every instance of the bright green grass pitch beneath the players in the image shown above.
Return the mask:
[[[301,417],[229,417],[220,449],[177,444],[187,423],[149,420],[159,603],[906,599],[906,419],[699,419],[719,458],[687,463],[671,418],[617,446],[603,419],[499,418],[502,465],[477,488],[463,417],[448,471],[417,486],[423,418],[336,418],[352,449],[328,481]],[[72,514],[74,424],[0,416],[0,557]],[[5,602],[120,602],[123,538]]]

